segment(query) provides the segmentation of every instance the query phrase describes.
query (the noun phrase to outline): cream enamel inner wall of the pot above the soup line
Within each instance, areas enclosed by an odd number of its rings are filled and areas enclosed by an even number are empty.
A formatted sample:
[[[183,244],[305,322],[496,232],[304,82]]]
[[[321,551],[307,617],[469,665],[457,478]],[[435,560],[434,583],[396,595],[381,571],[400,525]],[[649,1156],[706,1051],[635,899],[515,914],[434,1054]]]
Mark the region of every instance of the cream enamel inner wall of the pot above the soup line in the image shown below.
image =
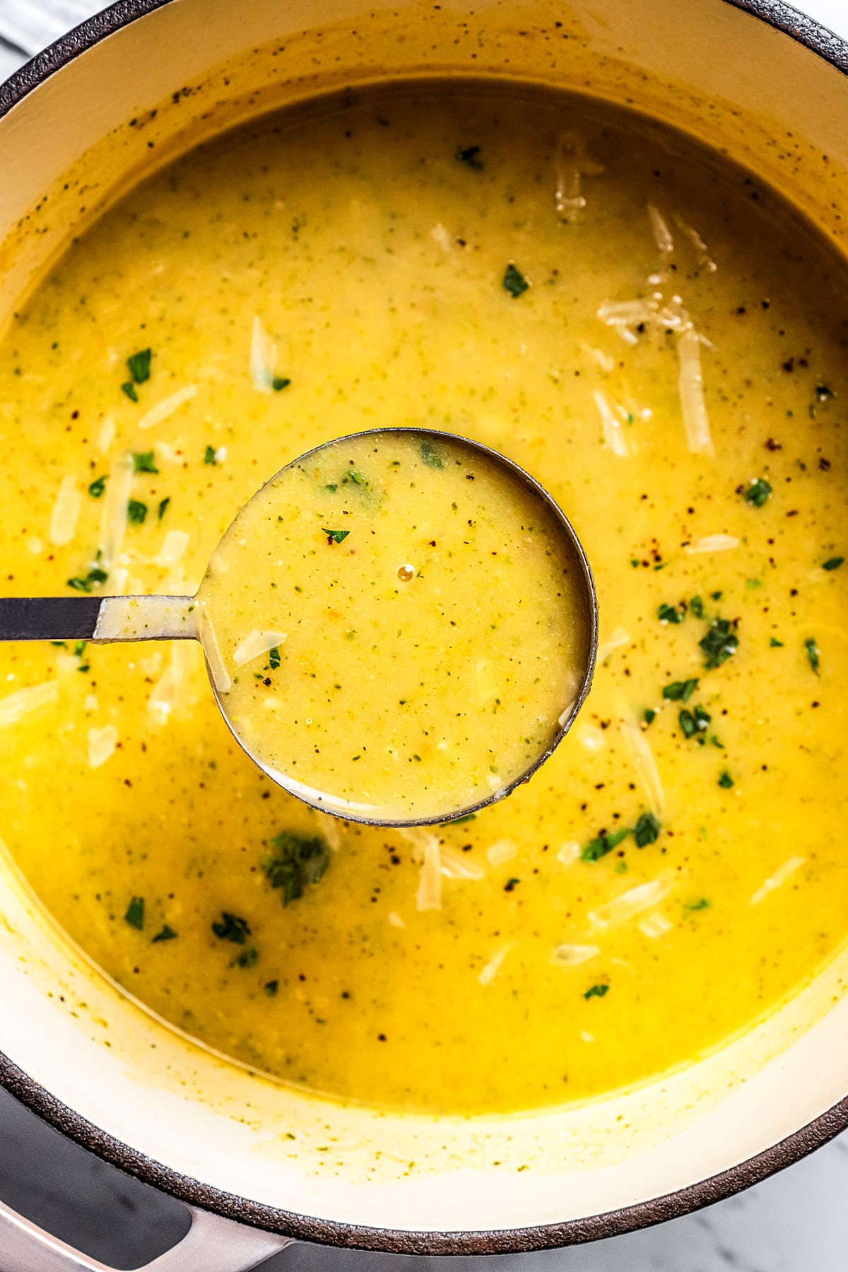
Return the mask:
[[[249,14],[239,9],[236,19],[225,0],[174,0],[97,46],[15,108],[0,125],[0,159],[4,170],[22,178],[3,191],[3,228],[15,226],[46,192],[51,198],[11,232],[3,256],[5,307],[14,304],[25,277],[43,267],[75,218],[88,219],[131,177],[149,141],[163,155],[173,153],[181,132],[206,111],[212,131],[263,103],[346,79],[468,71],[472,47],[473,67],[482,73],[633,99],[712,145],[726,144],[839,234],[838,207],[848,202],[848,139],[839,135],[845,81],[726,5],[681,4],[673,17],[664,0],[591,0],[578,18],[545,4],[491,5],[474,18],[459,6],[436,14],[413,6],[400,17],[385,8],[367,19],[353,5],[327,5],[322,13],[327,22],[315,28],[314,5],[305,3],[285,15],[277,5],[257,3]],[[366,20],[367,42],[361,39]],[[352,37],[357,24],[360,36]],[[270,39],[258,53],[242,56]],[[231,66],[209,75],[230,55]],[[127,59],[149,73],[126,76]],[[670,66],[676,81],[669,80]],[[784,120],[763,111],[776,83]],[[259,92],[266,84],[271,86]],[[202,86],[146,122],[146,109],[195,85]],[[133,116],[141,126],[123,127]],[[62,191],[62,174],[92,146],[83,169],[89,188],[83,195],[71,178]],[[819,151],[828,155],[826,164]],[[0,888],[0,993],[6,1007],[0,1047],[6,1054],[141,1152],[287,1210],[425,1230],[592,1215],[741,1161],[844,1094],[844,1074],[833,1057],[845,1049],[848,1006],[843,1000],[825,1010],[844,991],[848,955],[725,1052],[623,1098],[509,1122],[339,1110],[281,1091],[156,1027],[69,950],[11,870]],[[104,1046],[103,1021],[111,1046]],[[519,1174],[519,1165],[529,1169]]]

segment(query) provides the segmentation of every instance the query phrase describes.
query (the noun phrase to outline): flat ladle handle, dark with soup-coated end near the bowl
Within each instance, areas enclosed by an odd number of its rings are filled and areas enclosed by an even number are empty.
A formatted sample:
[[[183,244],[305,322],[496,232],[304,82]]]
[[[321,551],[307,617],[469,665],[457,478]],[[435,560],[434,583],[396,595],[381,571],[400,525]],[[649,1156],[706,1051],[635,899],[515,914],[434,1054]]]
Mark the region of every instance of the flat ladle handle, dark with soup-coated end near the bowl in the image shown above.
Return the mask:
[[[0,641],[197,639],[193,597],[0,598]]]

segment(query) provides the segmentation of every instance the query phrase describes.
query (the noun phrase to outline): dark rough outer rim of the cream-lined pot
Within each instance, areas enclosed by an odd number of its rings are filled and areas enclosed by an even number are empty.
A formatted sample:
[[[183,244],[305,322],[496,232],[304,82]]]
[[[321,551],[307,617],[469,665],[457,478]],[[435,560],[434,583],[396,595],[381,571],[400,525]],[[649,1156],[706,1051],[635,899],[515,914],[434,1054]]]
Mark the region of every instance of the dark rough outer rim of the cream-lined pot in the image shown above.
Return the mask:
[[[56,71],[94,45],[172,3],[173,0],[116,0],[108,9],[67,32],[0,84],[0,120]],[[815,18],[800,13],[783,0],[722,0],[722,3],[764,22],[848,75],[848,39],[837,36]],[[386,1254],[519,1254],[577,1245],[606,1236],[622,1236],[669,1219],[680,1219],[704,1206],[732,1197],[753,1184],[762,1183],[778,1170],[793,1165],[848,1130],[847,1095],[763,1152],[676,1192],[633,1206],[529,1227],[413,1231],[314,1219],[205,1184],[139,1152],[94,1126],[56,1099],[3,1052],[0,1052],[0,1086],[83,1149],[189,1206],[198,1206],[252,1227],[280,1233],[294,1240]]]

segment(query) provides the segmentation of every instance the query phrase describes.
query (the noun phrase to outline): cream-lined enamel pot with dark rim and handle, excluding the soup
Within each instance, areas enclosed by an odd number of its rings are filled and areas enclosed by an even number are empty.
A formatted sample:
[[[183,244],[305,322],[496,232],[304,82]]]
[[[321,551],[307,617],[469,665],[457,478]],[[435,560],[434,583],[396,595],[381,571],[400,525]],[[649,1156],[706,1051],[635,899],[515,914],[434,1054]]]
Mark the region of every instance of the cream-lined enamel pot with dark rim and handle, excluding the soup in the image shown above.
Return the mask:
[[[845,249],[848,45],[779,0],[120,0],[0,88],[0,314],[158,162],[259,111],[385,76],[475,75],[636,104],[770,181]],[[0,1081],[192,1207],[150,1264],[239,1272],[292,1239],[483,1254],[715,1202],[848,1126],[848,950],[721,1051],[512,1118],[339,1107],[182,1037],[0,869]],[[4,1272],[100,1268],[0,1208]]]

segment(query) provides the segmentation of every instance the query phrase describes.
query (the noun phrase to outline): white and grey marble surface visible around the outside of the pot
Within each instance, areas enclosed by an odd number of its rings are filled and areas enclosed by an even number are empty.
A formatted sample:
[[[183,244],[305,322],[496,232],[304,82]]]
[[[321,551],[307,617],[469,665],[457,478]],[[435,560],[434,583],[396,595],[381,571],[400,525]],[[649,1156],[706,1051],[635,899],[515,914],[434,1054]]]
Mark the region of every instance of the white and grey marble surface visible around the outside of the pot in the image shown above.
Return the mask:
[[[0,79],[24,60],[22,50],[34,52],[97,8],[86,0],[0,0]],[[798,8],[848,36],[848,0],[806,0]],[[123,1268],[167,1249],[186,1225],[181,1206],[67,1144],[3,1091],[0,1197],[57,1236]],[[402,1272],[407,1266],[444,1272],[847,1272],[848,1136],[718,1206],[594,1245],[486,1261],[404,1259],[303,1245],[264,1266],[268,1272]]]

